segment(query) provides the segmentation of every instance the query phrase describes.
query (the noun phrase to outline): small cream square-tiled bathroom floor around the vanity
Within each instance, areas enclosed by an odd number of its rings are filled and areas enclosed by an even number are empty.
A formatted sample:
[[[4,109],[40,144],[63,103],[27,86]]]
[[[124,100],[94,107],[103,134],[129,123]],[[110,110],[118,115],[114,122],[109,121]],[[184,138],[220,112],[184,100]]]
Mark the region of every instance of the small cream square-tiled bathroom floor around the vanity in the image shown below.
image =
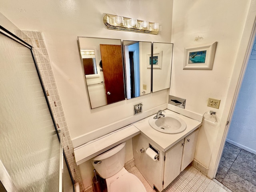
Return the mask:
[[[156,190],[150,187],[135,166],[129,172],[136,175],[142,181],[147,192],[156,192]],[[163,192],[230,192],[220,182],[215,181],[204,176],[193,166],[188,166]]]

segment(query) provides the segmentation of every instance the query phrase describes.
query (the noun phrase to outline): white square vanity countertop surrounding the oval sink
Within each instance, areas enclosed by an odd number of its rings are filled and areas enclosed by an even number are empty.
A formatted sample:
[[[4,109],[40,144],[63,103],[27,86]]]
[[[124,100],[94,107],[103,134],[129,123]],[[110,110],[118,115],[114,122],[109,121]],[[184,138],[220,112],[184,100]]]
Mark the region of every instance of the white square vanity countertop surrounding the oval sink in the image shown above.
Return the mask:
[[[173,114],[184,120],[186,122],[186,130],[178,134],[166,134],[153,129],[149,125],[148,119],[153,118],[156,114],[148,118],[144,118],[134,123],[133,125],[136,126],[140,130],[140,133],[144,135],[146,138],[148,138],[148,140],[154,142],[154,144],[157,145],[159,149],[161,149],[163,152],[166,152],[168,149],[170,149],[184,137],[188,136],[190,133],[192,133],[194,130],[200,127],[202,122],[188,118],[184,115],[178,114],[168,109],[164,111],[166,112],[164,113],[165,115]]]

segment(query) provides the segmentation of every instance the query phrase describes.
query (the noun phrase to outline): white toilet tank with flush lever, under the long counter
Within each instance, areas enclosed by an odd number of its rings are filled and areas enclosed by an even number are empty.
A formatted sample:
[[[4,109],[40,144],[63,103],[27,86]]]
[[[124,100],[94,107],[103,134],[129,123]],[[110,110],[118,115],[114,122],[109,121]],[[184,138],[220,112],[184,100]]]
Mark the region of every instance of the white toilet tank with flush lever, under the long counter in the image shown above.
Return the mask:
[[[90,160],[102,178],[111,177],[124,167],[125,144],[123,142]]]

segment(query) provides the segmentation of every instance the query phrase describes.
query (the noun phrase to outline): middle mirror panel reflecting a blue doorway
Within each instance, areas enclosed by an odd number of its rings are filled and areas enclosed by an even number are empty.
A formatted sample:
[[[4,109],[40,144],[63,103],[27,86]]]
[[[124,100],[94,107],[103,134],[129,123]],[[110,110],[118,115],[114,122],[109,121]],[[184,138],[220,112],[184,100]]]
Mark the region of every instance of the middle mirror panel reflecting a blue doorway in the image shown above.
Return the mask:
[[[127,99],[151,92],[151,70],[147,68],[151,42],[123,41]]]

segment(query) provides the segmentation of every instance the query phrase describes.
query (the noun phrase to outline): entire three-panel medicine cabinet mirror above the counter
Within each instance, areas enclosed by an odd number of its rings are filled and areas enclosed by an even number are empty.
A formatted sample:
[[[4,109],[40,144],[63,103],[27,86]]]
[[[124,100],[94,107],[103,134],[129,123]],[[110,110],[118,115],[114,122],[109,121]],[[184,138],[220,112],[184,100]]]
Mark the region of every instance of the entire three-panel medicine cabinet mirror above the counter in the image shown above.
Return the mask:
[[[91,37],[78,44],[92,109],[170,88],[173,44]]]

